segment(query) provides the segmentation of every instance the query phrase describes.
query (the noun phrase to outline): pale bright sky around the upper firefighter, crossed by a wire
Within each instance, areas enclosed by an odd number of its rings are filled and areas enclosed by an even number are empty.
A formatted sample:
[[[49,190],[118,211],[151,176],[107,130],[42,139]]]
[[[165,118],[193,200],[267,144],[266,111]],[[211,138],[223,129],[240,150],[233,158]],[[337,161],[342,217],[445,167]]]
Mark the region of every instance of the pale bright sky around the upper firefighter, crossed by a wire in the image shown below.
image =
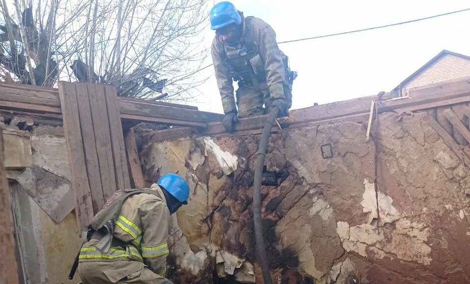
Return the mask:
[[[218,1],[216,1],[218,2]],[[270,24],[277,41],[393,24],[470,8],[470,0],[233,0]],[[207,27],[206,46],[214,32]],[[470,11],[417,23],[279,45],[289,56],[292,109],[390,91],[442,49],[470,55]],[[207,64],[212,63],[209,58]],[[222,112],[212,67],[195,103]]]

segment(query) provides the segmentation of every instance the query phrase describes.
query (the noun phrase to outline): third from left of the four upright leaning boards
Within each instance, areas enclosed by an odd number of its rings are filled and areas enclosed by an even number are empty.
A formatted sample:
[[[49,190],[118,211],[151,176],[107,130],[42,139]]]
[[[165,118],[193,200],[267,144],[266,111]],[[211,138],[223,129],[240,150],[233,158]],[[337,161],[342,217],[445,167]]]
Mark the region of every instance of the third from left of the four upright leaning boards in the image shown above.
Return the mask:
[[[106,202],[116,191],[114,165],[111,153],[111,137],[104,94],[98,99],[94,84],[86,84],[90,101],[91,118],[95,132],[96,153],[100,167],[103,198]],[[104,103],[104,104],[103,104]]]

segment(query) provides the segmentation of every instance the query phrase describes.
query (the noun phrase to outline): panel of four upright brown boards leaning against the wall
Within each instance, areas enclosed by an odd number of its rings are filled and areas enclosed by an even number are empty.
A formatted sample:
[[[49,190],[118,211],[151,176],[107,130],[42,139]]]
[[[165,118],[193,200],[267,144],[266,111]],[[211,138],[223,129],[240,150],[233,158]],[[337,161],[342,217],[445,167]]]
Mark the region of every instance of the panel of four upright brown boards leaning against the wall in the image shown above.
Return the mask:
[[[59,87],[72,186],[84,228],[116,189],[131,187],[117,95],[108,85],[61,82]]]

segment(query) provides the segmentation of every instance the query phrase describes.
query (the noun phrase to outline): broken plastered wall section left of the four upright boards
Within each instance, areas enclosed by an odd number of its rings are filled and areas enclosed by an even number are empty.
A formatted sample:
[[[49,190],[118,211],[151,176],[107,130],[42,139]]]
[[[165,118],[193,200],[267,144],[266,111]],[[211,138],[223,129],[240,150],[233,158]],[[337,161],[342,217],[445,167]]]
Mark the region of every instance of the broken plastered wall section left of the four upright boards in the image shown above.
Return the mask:
[[[3,127],[8,128],[9,133],[16,133],[10,135],[10,140],[13,144],[21,140],[19,149],[29,155],[21,160],[28,161],[27,165],[19,163],[8,173],[22,281],[26,284],[69,283],[67,276],[82,240],[75,217],[63,129],[38,126],[22,131],[7,125]],[[25,145],[28,151],[23,150]],[[16,152],[11,148],[5,155],[17,157]],[[74,281],[80,281],[78,276]]]

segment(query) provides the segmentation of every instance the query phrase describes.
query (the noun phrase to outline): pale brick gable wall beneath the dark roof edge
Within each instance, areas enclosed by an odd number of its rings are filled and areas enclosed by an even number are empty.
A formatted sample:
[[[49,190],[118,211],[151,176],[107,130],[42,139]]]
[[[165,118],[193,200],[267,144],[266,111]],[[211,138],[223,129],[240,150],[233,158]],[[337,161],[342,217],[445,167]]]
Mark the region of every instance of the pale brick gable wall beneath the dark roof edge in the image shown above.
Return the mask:
[[[452,54],[444,54],[427,69],[416,75],[402,87],[402,95],[415,87],[470,76],[470,60]]]

